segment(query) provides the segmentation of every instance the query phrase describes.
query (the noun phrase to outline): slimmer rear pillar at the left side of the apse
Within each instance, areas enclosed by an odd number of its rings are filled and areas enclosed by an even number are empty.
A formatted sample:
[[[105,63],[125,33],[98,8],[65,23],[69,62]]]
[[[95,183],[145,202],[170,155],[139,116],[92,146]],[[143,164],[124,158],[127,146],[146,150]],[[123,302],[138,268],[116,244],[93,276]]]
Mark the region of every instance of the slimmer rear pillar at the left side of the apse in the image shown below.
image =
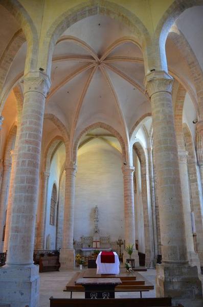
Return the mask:
[[[65,168],[65,203],[63,221],[63,246],[60,252],[61,268],[74,268],[75,250],[73,248],[75,179],[77,166],[70,164]]]

